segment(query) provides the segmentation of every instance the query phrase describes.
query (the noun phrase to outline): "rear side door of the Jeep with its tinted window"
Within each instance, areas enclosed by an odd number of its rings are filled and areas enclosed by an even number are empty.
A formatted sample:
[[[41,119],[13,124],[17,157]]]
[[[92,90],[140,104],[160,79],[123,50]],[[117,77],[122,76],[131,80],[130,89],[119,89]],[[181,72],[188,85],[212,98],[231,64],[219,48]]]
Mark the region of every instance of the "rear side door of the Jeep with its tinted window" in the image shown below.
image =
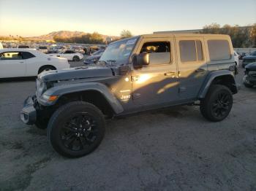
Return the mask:
[[[196,98],[207,74],[203,37],[176,37],[179,95]]]

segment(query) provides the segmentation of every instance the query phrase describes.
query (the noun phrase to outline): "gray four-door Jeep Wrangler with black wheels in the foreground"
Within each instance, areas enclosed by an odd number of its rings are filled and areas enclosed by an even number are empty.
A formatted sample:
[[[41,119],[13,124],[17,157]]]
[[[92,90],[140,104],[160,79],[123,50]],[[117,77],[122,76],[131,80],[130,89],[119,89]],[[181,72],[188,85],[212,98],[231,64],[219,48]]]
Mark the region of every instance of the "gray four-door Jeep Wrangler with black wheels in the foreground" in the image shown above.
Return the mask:
[[[213,122],[233,105],[235,61],[230,36],[148,34],[109,44],[97,65],[45,71],[20,118],[47,128],[56,152],[81,157],[96,149],[105,119],[195,104]]]

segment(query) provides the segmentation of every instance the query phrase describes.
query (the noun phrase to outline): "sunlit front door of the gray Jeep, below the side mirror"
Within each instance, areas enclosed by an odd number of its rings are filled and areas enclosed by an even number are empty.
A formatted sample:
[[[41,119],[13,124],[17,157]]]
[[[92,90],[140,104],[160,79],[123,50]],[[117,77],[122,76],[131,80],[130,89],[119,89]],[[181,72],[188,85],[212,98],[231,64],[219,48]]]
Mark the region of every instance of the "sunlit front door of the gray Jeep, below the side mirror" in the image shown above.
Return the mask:
[[[135,104],[164,104],[178,98],[178,73],[174,40],[146,38],[138,52],[149,53],[149,64],[132,70],[132,98]]]

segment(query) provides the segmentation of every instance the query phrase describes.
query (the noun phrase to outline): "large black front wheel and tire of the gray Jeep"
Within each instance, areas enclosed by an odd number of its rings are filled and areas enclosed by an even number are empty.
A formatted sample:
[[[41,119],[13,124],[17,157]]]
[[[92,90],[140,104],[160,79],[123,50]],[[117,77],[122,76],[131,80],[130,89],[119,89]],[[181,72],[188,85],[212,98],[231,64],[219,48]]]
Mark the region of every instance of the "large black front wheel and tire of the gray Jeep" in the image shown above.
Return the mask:
[[[105,135],[105,117],[93,104],[73,101],[61,106],[48,123],[48,140],[65,157],[93,152]]]

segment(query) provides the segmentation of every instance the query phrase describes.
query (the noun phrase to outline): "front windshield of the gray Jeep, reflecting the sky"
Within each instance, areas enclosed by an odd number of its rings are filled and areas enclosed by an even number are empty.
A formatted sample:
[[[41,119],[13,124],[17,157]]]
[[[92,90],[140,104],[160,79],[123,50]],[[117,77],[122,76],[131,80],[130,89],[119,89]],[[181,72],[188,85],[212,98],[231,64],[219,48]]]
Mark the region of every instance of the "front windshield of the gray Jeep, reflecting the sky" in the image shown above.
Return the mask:
[[[137,37],[124,39],[109,44],[105,52],[102,54],[102,57],[99,59],[99,62],[103,61],[105,63],[116,64],[128,63],[129,55],[131,55],[137,39]]]

